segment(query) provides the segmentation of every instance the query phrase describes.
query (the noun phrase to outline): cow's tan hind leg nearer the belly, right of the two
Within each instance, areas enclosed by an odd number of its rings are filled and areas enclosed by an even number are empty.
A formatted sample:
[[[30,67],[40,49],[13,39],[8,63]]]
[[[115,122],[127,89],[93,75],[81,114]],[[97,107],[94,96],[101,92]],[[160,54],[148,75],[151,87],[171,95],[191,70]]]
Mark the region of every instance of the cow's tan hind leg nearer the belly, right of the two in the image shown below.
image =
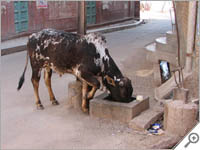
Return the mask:
[[[56,98],[53,94],[53,90],[51,88],[51,76],[52,76],[52,69],[45,68],[45,70],[44,70],[44,81],[45,81],[46,87],[47,87],[48,92],[49,92],[50,101],[52,102],[53,105],[58,105],[59,103],[56,100]]]

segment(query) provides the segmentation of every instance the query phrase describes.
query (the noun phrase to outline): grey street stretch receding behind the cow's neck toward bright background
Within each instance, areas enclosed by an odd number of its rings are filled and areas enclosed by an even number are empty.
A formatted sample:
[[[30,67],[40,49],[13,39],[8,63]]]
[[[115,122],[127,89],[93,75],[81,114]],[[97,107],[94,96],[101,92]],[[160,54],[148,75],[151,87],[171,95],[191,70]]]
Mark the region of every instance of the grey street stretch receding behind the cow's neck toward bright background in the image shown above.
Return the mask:
[[[134,49],[142,48],[153,42],[155,38],[165,36],[171,30],[170,20],[151,20],[136,28],[105,34],[111,55],[118,60],[124,60]]]

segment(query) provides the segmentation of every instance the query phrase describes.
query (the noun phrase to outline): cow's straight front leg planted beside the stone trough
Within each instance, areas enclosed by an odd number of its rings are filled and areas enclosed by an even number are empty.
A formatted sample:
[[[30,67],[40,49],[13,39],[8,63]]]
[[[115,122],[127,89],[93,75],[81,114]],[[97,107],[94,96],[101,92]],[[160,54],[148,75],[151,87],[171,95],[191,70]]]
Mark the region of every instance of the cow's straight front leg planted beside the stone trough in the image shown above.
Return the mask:
[[[87,92],[88,92],[88,84],[86,81],[83,81],[82,82],[82,110],[83,110],[83,112],[88,112]]]

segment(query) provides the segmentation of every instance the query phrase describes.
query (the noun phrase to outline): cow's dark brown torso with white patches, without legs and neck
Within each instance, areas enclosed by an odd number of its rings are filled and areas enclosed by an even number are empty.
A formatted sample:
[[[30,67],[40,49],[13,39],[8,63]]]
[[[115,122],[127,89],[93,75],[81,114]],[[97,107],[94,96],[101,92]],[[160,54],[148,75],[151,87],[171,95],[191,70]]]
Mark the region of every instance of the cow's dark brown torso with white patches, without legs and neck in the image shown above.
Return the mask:
[[[99,71],[94,63],[94,58],[99,57],[96,48],[81,35],[44,29],[29,37],[27,47],[32,61],[42,66],[48,64],[59,72],[70,72],[80,64],[94,69],[91,71],[95,74]]]

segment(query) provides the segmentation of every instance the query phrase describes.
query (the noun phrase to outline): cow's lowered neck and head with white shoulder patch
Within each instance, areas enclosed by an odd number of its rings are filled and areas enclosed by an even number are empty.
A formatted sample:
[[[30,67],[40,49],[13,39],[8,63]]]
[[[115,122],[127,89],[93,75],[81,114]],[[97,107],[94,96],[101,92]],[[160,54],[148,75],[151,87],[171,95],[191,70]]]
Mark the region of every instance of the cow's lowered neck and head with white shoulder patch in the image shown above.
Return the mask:
[[[105,37],[99,33],[89,33],[84,37],[88,43],[94,44],[96,53],[100,56],[94,59],[95,64],[101,67],[104,85],[110,91],[112,99],[119,102],[129,102],[133,93],[131,80],[123,77],[110,56]]]

